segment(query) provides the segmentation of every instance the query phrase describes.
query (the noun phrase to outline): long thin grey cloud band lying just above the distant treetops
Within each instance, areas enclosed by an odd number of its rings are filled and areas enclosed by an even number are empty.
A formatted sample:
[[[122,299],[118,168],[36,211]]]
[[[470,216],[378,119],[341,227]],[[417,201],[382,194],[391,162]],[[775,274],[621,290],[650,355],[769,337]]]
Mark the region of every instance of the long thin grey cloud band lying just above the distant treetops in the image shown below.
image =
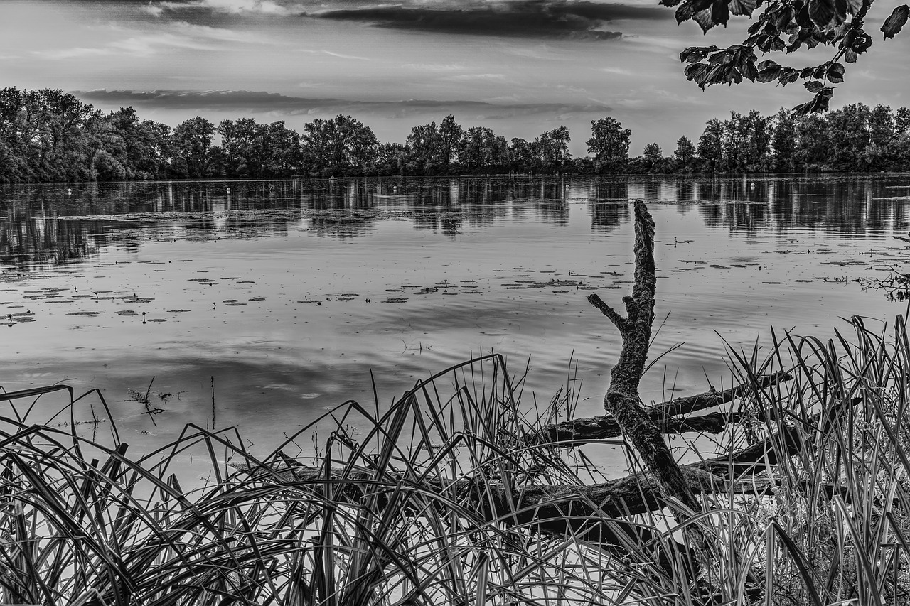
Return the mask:
[[[502,119],[513,116],[562,116],[567,114],[602,114],[610,107],[601,104],[571,103],[484,103],[482,101],[361,101],[333,98],[306,98],[246,90],[180,91],[180,90],[89,90],[72,91],[87,103],[103,107],[134,106],[145,109],[180,110],[187,113],[213,112],[268,113],[286,116],[323,116],[335,114],[404,117],[418,114],[450,112],[474,119]]]

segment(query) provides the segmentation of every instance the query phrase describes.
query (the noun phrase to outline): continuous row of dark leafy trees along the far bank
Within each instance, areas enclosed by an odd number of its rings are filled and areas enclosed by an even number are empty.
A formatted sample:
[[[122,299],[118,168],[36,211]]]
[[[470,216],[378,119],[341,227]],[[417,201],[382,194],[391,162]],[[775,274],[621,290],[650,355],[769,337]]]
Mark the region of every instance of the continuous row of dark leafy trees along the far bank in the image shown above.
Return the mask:
[[[315,119],[298,133],[253,118],[171,128],[132,107],[105,114],[61,90],[0,90],[0,183],[159,178],[280,178],[503,173],[737,173],[910,170],[910,110],[852,104],[795,117],[731,112],[672,153],[657,143],[629,157],[632,131],[591,122],[588,157],[571,157],[569,128],[511,141],[455,116],[380,143],[351,116]],[[216,145],[216,142],[217,143]],[[669,150],[667,150],[669,151]]]

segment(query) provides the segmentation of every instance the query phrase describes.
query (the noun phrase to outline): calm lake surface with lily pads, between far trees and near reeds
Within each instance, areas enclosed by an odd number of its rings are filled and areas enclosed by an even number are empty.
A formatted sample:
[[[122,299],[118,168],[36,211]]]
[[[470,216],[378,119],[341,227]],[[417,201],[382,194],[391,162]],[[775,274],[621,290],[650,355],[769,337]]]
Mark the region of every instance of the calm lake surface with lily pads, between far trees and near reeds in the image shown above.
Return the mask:
[[[572,359],[579,414],[599,413],[620,340],[585,296],[621,305],[636,198],[669,313],[652,354],[683,344],[646,399],[728,385],[723,339],[828,338],[841,318],[905,310],[850,280],[904,262],[910,176],[68,189],[0,189],[0,385],[99,388],[140,449],[205,425],[213,382],[217,426],[268,449],[327,407],[371,403],[370,370],[386,403],[490,349],[514,370],[530,357],[528,401]],[[129,396],[153,377],[157,425]]]

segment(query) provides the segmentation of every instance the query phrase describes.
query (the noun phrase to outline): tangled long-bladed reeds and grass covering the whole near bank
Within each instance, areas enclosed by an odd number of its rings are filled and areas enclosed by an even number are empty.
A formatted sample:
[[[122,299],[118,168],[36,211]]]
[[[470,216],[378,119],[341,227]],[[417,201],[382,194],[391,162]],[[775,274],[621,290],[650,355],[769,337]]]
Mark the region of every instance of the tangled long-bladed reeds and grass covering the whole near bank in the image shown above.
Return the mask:
[[[708,566],[666,510],[598,517],[606,501],[587,498],[560,532],[533,515],[541,503],[523,496],[541,486],[559,487],[551,500],[571,515],[586,499],[571,487],[605,481],[587,458],[602,447],[541,440],[571,416],[572,382],[545,409],[521,404],[521,376],[499,355],[420,381],[388,409],[342,404],[308,457],[288,450],[312,426],[262,459],[234,430],[195,426],[132,457],[113,423],[105,439],[82,435],[86,408],[111,417],[97,392],[6,393],[0,603],[910,604],[910,335],[900,317],[851,328],[730,351],[733,378],[756,387],[730,405],[737,423],[719,439],[687,435],[685,454],[770,449],[733,481],[704,479],[686,525]],[[757,386],[778,369],[794,379]],[[73,422],[32,418],[36,399],[67,389]],[[189,450],[207,454],[212,480],[184,490],[172,468]],[[630,480],[650,490],[647,474]],[[595,526],[615,536],[593,540]]]

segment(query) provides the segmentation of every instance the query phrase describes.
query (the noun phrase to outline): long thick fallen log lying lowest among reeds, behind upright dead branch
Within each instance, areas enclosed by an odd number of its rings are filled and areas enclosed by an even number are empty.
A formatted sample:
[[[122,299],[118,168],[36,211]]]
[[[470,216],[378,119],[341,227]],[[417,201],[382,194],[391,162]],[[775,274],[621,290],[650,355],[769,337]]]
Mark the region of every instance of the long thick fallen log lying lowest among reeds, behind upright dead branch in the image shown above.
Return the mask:
[[[859,399],[850,402],[859,403]],[[845,409],[845,408],[844,408]],[[814,416],[807,426],[821,428],[830,419]],[[775,438],[754,442],[743,449],[711,459],[680,465],[684,481],[693,494],[745,494],[763,496],[776,486],[763,471],[775,465],[779,455],[793,457],[806,448],[810,439],[804,429],[782,426]],[[522,483],[520,474],[506,486],[502,481],[484,481],[460,478],[450,480],[440,477],[409,478],[393,470],[331,470],[327,478],[325,468],[297,463],[272,464],[255,467],[232,464],[246,470],[253,480],[274,481],[305,490],[322,490],[334,485],[340,494],[359,500],[368,494],[393,490],[430,491],[455,502],[477,499],[493,506],[487,510],[491,519],[513,519],[515,523],[540,526],[541,530],[591,531],[610,536],[610,524],[594,524],[591,517],[623,518],[631,515],[661,510],[665,507],[659,480],[650,472],[632,473],[622,478],[588,485],[540,486]],[[761,474],[759,477],[756,475]],[[487,499],[478,499],[482,488]],[[517,483],[516,483],[517,481]],[[833,487],[821,487],[833,494]],[[612,531],[612,530],[611,530]]]

